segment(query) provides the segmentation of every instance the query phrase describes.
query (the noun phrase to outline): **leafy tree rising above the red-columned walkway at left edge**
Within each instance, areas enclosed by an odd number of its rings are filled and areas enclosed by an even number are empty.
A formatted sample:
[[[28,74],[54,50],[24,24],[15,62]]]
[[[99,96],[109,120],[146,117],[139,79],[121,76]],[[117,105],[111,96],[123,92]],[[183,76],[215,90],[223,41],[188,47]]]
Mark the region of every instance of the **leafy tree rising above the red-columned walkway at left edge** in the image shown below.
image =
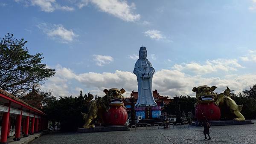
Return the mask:
[[[44,84],[55,74],[55,69],[41,63],[41,53],[30,55],[27,41],[17,40],[7,34],[0,41],[0,89],[20,96]]]

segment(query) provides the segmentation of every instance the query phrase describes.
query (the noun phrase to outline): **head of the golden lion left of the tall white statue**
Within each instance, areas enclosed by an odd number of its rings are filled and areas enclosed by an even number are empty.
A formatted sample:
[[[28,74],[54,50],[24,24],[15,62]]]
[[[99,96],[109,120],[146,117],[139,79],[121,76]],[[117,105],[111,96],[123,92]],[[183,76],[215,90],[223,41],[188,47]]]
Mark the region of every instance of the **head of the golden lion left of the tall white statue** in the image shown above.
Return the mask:
[[[110,105],[114,105],[114,106],[123,105],[122,101],[124,99],[124,96],[122,96],[122,94],[125,93],[125,89],[116,89],[116,88],[112,88],[109,90],[104,89],[103,92],[105,92],[106,96],[110,100]]]

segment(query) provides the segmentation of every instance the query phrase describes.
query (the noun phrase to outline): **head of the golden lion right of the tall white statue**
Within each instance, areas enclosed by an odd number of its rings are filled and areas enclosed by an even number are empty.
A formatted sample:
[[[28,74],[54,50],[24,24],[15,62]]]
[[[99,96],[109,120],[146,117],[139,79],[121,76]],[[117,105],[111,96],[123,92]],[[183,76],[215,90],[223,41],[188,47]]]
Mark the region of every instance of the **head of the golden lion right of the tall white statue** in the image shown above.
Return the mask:
[[[198,86],[192,89],[195,92],[196,100],[199,103],[209,103],[214,101],[215,92],[213,92],[217,87],[216,86]]]

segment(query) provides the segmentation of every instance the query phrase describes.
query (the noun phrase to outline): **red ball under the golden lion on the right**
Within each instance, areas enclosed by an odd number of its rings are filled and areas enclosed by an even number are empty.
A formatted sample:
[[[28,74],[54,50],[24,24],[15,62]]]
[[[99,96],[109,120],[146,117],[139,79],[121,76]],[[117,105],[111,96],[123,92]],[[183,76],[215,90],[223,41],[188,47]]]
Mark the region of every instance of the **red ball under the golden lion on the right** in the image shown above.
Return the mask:
[[[216,121],[221,118],[221,110],[212,103],[198,103],[195,107],[195,116],[199,121],[204,120],[204,116],[208,121]]]

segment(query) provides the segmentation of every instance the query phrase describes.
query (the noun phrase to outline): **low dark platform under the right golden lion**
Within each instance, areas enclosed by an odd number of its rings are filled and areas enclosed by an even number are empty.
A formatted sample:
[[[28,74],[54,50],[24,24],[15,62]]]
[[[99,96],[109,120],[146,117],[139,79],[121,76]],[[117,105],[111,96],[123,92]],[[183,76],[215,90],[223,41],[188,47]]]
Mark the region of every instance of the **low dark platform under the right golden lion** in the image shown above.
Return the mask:
[[[209,123],[210,123],[211,126],[253,124],[251,120],[245,120],[245,121],[209,121]]]

